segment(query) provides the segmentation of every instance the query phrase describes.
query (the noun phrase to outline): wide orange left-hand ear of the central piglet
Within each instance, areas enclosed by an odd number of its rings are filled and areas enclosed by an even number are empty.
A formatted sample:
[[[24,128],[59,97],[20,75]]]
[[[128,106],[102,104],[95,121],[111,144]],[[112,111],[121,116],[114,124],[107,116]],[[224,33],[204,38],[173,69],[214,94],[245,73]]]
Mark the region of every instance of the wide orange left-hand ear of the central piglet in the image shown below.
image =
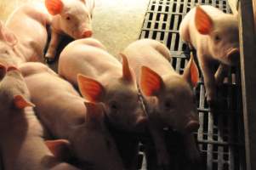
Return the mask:
[[[82,74],[77,75],[78,88],[84,97],[90,102],[100,102],[104,98],[105,88],[100,82],[85,77]]]

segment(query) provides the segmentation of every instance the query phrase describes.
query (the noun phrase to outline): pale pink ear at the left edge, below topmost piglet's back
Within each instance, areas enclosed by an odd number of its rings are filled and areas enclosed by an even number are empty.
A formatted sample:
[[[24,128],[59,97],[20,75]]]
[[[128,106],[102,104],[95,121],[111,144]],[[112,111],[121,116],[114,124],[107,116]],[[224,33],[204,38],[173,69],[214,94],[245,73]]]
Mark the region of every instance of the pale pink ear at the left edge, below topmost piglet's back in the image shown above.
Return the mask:
[[[18,39],[14,35],[14,32],[3,26],[3,23],[0,25],[0,38],[3,39],[3,41],[7,42],[9,45],[14,46],[18,42]]]

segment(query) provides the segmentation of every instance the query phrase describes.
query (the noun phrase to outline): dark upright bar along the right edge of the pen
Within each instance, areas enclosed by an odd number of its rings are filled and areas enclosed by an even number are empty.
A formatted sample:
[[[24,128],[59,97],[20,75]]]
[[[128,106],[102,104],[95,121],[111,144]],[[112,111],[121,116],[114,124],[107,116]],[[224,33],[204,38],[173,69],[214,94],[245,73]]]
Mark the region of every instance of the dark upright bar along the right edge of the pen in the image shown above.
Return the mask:
[[[239,39],[241,50],[242,105],[246,146],[247,170],[256,169],[256,44],[253,27],[252,0],[238,4]]]

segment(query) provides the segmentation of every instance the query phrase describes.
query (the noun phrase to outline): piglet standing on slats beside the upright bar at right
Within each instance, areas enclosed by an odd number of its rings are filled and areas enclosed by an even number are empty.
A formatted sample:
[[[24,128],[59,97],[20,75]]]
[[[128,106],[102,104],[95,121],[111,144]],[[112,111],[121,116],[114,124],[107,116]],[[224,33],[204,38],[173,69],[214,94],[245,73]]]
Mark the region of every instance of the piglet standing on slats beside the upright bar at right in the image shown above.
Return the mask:
[[[223,82],[227,65],[236,65],[239,60],[237,14],[225,14],[209,5],[197,6],[181,21],[179,34],[191,48],[196,48],[207,100],[213,105],[216,83]],[[215,75],[213,61],[220,63]]]

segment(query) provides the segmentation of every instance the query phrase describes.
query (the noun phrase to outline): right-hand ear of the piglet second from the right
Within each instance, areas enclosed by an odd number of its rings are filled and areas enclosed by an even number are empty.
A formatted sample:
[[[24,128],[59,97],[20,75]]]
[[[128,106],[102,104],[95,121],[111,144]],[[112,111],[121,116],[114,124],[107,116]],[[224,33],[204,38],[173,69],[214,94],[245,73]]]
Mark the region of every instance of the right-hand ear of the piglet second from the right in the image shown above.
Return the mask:
[[[196,84],[199,80],[199,71],[196,66],[196,63],[195,63],[192,53],[191,53],[191,59],[185,67],[183,77],[185,77],[185,80],[187,82],[190,82],[190,84],[193,88],[196,87]]]

